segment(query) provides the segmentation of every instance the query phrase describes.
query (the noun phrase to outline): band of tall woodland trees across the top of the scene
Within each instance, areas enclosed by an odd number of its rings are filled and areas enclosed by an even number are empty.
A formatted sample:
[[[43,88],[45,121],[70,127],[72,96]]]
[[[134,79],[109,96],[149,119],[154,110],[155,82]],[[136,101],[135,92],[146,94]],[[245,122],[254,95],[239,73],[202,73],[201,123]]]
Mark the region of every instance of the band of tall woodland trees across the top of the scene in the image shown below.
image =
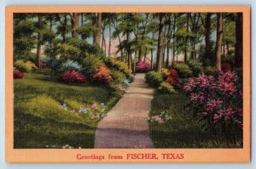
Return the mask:
[[[241,13],[15,14],[14,19],[15,59],[30,59],[38,68],[43,55],[82,57],[95,48],[108,56],[117,48],[116,54],[130,69],[148,55],[154,70],[189,59],[221,70],[222,60],[232,54],[232,63],[242,64]],[[89,43],[95,48],[88,49]]]

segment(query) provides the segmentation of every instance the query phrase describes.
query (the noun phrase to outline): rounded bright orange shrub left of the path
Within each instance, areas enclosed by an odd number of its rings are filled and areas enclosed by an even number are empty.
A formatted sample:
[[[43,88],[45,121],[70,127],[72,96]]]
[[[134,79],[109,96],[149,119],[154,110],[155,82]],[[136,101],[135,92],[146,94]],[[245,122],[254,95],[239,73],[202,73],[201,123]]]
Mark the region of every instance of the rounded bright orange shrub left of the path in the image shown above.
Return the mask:
[[[112,79],[111,72],[106,66],[101,66],[97,68],[94,71],[93,78],[98,82],[110,82]]]

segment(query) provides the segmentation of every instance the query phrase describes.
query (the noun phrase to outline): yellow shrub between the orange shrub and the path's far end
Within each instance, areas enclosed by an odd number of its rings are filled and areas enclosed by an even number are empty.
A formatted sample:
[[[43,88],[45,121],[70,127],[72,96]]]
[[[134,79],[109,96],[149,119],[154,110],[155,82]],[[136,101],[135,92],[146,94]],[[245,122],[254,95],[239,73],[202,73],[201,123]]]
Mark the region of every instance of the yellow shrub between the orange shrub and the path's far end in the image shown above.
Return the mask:
[[[116,59],[116,58],[113,58],[113,57],[108,57],[105,59],[105,64],[108,66],[108,67],[111,67],[115,70],[120,70],[122,71],[123,73],[125,73],[125,75],[129,75],[131,74],[132,70],[129,69],[128,67],[128,64],[123,62],[123,61],[120,61],[119,59]]]

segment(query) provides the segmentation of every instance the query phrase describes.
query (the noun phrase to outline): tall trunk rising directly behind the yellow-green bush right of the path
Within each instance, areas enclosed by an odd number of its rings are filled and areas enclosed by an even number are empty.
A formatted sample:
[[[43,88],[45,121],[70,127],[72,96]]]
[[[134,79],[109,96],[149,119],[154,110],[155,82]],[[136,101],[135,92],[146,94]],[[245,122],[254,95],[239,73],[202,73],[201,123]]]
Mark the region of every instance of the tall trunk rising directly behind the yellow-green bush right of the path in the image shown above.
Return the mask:
[[[157,46],[157,70],[160,71],[163,64],[163,27],[164,27],[164,14],[160,13],[160,24],[158,31],[158,46]]]

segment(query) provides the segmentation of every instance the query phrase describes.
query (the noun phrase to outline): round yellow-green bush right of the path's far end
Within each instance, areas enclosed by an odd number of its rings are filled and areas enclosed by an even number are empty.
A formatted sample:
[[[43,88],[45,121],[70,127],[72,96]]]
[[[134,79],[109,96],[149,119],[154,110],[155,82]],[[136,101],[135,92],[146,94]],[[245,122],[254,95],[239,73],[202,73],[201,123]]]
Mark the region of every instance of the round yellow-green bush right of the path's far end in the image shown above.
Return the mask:
[[[159,87],[160,83],[164,81],[164,77],[161,72],[149,71],[145,76],[146,82],[152,87]]]

